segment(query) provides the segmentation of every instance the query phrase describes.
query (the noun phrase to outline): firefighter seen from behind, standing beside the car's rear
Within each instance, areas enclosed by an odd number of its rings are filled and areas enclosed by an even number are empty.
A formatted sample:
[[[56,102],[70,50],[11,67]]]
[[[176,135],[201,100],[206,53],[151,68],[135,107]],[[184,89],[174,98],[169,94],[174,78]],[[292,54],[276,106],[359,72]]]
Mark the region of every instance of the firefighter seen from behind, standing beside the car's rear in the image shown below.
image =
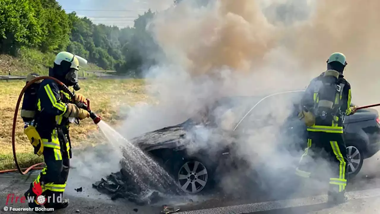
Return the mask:
[[[307,148],[301,157],[296,174],[310,177],[310,157],[325,154],[331,161],[333,175],[329,180],[328,203],[347,200],[347,154],[343,141],[344,116],[356,112],[351,106],[351,86],[343,77],[347,65],[342,53],[333,53],[327,61],[327,70],[314,78],[301,100],[300,118],[307,126]],[[309,160],[308,160],[309,159]]]

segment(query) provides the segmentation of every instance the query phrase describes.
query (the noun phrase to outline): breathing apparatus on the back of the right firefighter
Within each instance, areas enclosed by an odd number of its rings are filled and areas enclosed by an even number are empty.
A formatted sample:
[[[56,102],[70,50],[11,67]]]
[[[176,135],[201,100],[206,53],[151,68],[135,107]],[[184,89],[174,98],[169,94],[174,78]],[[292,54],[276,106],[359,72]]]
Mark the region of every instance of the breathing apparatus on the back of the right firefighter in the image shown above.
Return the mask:
[[[312,109],[302,107],[299,115],[303,119],[306,126],[315,125],[318,120],[329,125],[331,121],[338,122],[341,112],[340,105],[343,94],[344,83],[339,83],[339,72],[336,70],[327,70],[323,76],[319,77],[314,85]]]

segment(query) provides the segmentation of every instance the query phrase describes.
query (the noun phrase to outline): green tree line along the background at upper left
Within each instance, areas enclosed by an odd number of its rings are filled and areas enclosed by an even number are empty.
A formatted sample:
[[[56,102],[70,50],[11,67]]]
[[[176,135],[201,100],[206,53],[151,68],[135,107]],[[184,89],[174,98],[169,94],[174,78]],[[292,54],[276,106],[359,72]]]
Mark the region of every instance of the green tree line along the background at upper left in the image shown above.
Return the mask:
[[[106,70],[138,76],[155,64],[159,51],[146,26],[155,13],[139,15],[133,27],[93,24],[66,13],[55,0],[1,0],[0,54],[17,56],[20,48],[42,53],[70,51]]]

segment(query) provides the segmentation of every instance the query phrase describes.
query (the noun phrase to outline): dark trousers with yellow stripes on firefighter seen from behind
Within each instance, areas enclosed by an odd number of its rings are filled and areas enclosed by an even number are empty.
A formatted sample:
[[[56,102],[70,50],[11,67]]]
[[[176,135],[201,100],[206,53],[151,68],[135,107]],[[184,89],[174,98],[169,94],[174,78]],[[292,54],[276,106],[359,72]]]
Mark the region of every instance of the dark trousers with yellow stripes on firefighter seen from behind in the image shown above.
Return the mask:
[[[332,175],[329,179],[329,192],[341,193],[347,185],[347,151],[342,134],[308,131],[307,147],[299,161],[296,174],[301,177],[319,177],[321,172],[310,171],[312,163],[321,163],[318,158],[328,160]],[[319,160],[320,160],[319,159]],[[319,175],[318,175],[319,174]]]

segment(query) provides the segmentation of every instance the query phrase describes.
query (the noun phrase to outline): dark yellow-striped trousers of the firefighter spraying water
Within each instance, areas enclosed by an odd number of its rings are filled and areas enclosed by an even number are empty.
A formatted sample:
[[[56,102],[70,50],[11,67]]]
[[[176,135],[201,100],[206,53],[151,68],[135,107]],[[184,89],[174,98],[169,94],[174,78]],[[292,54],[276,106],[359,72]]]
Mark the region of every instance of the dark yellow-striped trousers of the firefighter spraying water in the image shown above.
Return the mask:
[[[32,188],[33,185],[40,184],[42,195],[46,198],[44,205],[54,206],[55,203],[63,202],[63,192],[65,191],[70,168],[70,157],[67,149],[63,149],[63,147],[61,149],[44,147],[43,156],[46,166],[35,181],[30,184],[30,188],[25,195],[38,196],[33,192]],[[38,206],[38,204],[30,206]]]

